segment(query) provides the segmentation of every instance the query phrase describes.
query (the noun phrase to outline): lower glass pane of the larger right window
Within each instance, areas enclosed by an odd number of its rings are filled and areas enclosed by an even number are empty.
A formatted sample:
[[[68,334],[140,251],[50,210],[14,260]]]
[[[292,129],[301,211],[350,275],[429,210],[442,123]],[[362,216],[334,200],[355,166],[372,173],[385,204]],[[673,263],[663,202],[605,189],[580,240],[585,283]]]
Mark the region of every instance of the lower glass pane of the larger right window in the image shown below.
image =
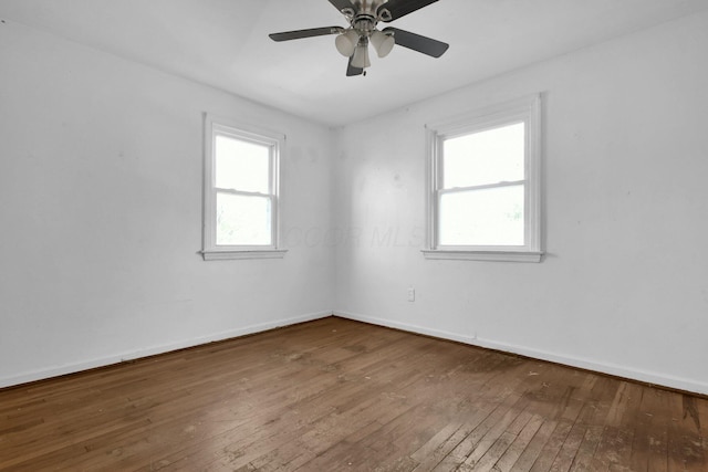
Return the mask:
[[[440,245],[523,245],[522,185],[442,193]]]

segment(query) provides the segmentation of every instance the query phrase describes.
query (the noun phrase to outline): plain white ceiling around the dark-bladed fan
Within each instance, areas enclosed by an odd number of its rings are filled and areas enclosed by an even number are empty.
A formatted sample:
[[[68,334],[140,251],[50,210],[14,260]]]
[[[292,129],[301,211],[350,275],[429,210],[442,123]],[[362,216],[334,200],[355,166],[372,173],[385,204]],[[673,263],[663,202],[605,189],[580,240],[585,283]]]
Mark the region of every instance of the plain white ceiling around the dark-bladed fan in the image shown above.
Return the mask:
[[[346,77],[327,0],[0,0],[0,19],[49,31],[309,119],[343,125],[506,71],[708,9],[706,0],[440,0],[391,23],[450,44],[395,48]]]

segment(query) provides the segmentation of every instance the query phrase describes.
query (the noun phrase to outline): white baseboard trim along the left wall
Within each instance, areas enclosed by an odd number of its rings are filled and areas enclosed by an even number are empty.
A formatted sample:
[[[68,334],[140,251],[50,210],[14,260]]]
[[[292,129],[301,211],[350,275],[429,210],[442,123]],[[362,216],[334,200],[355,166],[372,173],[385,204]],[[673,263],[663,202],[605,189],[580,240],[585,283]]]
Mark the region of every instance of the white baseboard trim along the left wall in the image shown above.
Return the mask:
[[[332,312],[319,312],[310,313],[306,315],[295,316],[292,318],[282,318],[274,322],[261,323],[257,325],[244,326],[237,329],[230,329],[221,333],[214,333],[207,336],[199,336],[191,339],[184,339],[178,343],[163,344],[159,346],[153,346],[145,349],[132,350],[127,353],[115,354],[84,363],[70,364],[64,366],[50,367],[46,369],[33,370],[19,376],[0,378],[0,388],[13,387],[22,384],[28,384],[37,380],[44,380],[51,377],[59,377],[67,374],[75,374],[82,370],[94,369],[97,367],[106,367],[113,364],[119,364],[126,360],[135,360],[143,357],[155,356],[157,354],[165,354],[171,350],[184,349],[187,347],[195,347],[202,344],[215,343],[218,340],[230,339],[235,337],[246,336],[249,334],[261,333],[268,329],[279,328],[283,326],[295,325],[298,323],[311,322],[314,319],[326,318],[332,316]]]

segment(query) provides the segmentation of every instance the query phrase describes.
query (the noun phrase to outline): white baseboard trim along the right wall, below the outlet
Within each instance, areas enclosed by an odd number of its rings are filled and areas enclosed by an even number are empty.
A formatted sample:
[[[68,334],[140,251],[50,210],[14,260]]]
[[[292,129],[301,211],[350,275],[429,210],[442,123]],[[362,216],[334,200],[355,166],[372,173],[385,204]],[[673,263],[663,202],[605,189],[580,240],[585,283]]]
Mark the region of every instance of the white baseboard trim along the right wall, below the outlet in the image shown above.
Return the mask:
[[[500,343],[492,339],[477,338],[473,336],[464,336],[455,333],[449,333],[439,329],[433,329],[424,326],[412,325],[407,323],[394,322],[386,318],[379,318],[375,316],[366,316],[355,313],[347,313],[342,311],[335,311],[334,316],[342,318],[354,319],[357,322],[369,323],[378,326],[386,326],[391,328],[402,329],[410,333],[423,334],[427,336],[439,337],[442,339],[455,340],[458,343],[469,344],[472,346],[483,347],[487,349],[501,350],[504,353],[518,354],[524,357],[531,357],[540,360],[548,360],[555,364],[562,364],[570,367],[576,367],[585,370],[592,370],[601,374],[608,374],[616,377],[626,379],[638,380],[646,384],[656,386],[690,391],[699,395],[708,395],[708,384],[686,379],[681,377],[675,377],[671,375],[654,373],[642,369],[633,369],[629,367],[623,367],[615,364],[597,363],[580,357],[551,353],[524,346],[518,346],[513,344]]]

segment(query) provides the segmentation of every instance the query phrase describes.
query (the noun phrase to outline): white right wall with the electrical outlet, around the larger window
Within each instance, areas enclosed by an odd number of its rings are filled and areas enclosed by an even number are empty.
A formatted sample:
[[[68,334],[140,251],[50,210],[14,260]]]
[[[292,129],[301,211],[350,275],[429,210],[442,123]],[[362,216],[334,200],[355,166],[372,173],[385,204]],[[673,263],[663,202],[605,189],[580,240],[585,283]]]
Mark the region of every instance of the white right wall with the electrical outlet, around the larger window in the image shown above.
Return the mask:
[[[337,313],[708,394],[706,50],[702,13],[340,129]],[[424,125],[534,92],[545,260],[425,260]]]

